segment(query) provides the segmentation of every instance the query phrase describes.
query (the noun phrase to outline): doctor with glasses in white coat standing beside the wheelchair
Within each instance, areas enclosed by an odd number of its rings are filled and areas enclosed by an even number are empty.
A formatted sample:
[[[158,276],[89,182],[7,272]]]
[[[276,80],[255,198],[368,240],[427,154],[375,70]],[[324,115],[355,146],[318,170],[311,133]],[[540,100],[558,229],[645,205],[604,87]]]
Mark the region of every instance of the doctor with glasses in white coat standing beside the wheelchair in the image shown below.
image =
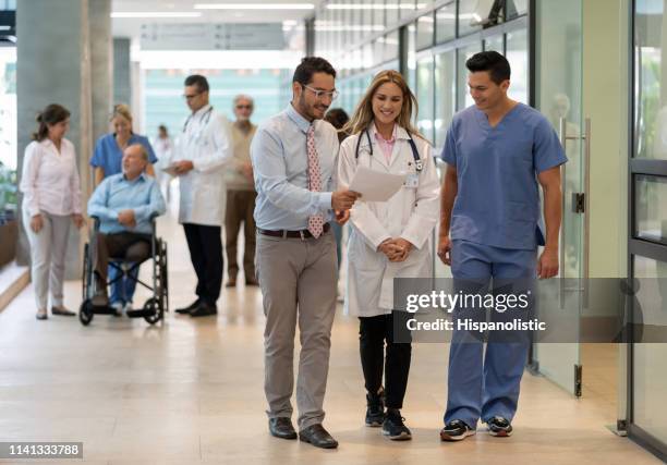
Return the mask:
[[[208,82],[202,75],[185,79],[183,97],[192,114],[183,125],[171,163],[180,179],[179,222],[185,230],[190,258],[197,274],[197,299],[177,313],[192,317],[218,313],[216,302],[223,270],[223,168],[232,161],[228,122],[208,103]]]

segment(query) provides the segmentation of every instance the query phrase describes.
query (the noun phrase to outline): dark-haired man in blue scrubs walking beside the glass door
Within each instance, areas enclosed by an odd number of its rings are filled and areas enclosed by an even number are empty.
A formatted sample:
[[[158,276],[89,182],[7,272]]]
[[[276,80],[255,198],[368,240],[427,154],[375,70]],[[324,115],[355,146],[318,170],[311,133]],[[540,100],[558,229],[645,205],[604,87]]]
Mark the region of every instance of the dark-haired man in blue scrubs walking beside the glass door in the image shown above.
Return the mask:
[[[510,65],[504,56],[481,52],[465,66],[475,105],[454,115],[442,150],[447,173],[438,255],[454,282],[553,278],[558,274],[559,167],[567,161],[558,136],[538,111],[507,96]],[[481,341],[471,342],[454,326],[441,440],[474,435],[478,420],[492,436],[511,436],[529,347],[527,340],[488,343],[484,354]]]

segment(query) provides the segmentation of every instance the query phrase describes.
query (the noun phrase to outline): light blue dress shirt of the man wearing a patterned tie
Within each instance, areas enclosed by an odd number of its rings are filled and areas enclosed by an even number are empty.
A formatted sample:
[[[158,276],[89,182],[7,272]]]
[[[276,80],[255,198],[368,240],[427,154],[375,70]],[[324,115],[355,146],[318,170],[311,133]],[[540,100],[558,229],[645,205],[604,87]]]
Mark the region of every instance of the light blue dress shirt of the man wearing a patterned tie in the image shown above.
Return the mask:
[[[305,118],[288,108],[259,126],[251,145],[257,200],[255,222],[265,230],[307,229],[308,217],[324,213],[331,219],[331,191],[338,163],[338,134],[324,120],[316,120],[315,149],[319,157],[322,192],[308,191],[308,154]]]

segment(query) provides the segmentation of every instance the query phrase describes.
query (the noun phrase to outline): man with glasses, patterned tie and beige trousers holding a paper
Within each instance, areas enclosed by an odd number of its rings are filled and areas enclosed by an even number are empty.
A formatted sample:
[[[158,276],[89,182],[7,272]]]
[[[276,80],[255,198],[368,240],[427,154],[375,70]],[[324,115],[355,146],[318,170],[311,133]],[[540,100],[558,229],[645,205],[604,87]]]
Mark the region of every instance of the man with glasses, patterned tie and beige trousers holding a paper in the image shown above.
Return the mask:
[[[340,221],[349,218],[357,197],[350,191],[331,192],[338,135],[322,119],[338,95],[335,78],[336,70],[326,60],[304,58],[292,78],[292,102],[259,126],[251,145],[269,431],[296,439],[290,399],[299,322],[299,438],[323,449],[338,446],[322,425],[338,282],[329,221],[335,212]]]

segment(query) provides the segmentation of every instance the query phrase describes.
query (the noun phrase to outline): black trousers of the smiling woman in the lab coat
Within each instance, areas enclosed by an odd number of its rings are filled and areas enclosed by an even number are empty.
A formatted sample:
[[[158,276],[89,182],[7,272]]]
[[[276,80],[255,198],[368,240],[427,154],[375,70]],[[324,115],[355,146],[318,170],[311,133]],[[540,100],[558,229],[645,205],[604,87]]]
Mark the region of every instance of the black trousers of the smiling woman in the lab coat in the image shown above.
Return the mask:
[[[402,408],[412,344],[393,342],[393,323],[405,319],[405,311],[393,311],[391,315],[361,317],[359,319],[359,348],[364,371],[364,381],[368,392],[377,392],[383,386],[385,372],[385,394],[388,408]],[[387,342],[385,356],[385,341]]]

